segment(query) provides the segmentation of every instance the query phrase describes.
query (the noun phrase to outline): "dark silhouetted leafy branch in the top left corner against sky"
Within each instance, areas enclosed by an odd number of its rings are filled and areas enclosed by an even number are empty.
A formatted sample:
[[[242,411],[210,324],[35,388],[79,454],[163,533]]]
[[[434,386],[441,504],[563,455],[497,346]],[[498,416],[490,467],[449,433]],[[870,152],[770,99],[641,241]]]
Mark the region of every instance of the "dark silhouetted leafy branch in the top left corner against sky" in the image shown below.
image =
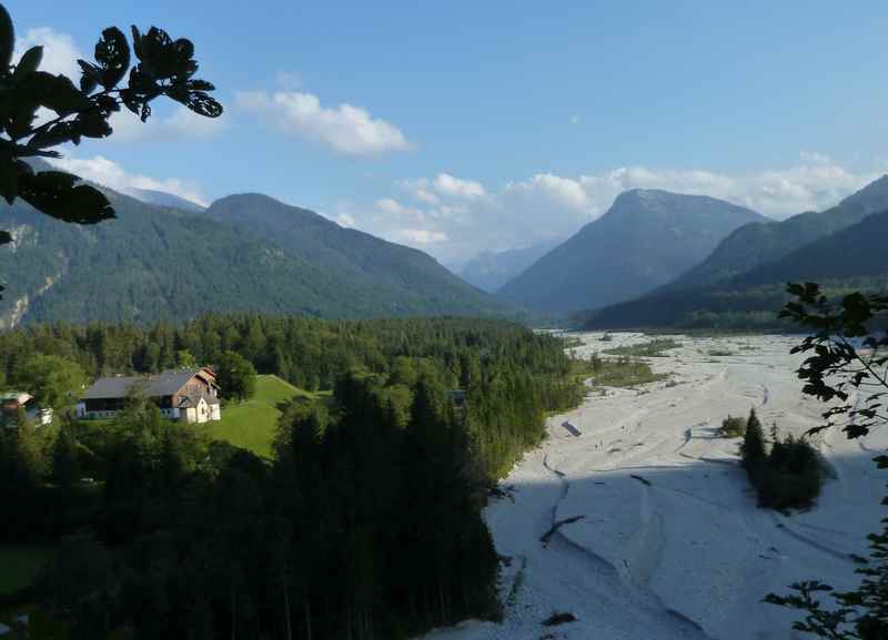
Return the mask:
[[[173,40],[157,27],[144,34],[133,27],[132,41],[131,49],[117,27],[102,31],[95,60],[78,60],[81,77],[75,85],[65,75],[40,71],[42,47],[32,47],[12,64],[14,29],[0,4],[0,196],[7,203],[21,197],[49,216],[79,224],[114,217],[98,189],[78,184],[78,176],[69,173],[34,172],[22,159],[60,158],[53,148],[111,135],[109,119],[121,105],[144,122],[151,115],[150,103],[161,95],[200,115],[222,114],[222,106],[208,93],[214,87],[194,78],[198,62],[191,41]],[[137,62],[131,68],[133,54]],[[36,125],[40,110],[54,118]],[[9,232],[0,232],[0,244],[11,241]]]

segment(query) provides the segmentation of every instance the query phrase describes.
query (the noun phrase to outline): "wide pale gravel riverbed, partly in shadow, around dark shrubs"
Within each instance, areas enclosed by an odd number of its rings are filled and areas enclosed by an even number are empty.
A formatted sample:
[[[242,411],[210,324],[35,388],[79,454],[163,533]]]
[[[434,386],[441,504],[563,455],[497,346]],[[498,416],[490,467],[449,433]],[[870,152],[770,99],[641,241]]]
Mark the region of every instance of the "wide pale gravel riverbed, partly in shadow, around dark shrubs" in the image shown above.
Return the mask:
[[[579,337],[575,352],[585,357],[649,339]],[[834,477],[817,506],[789,516],[759,509],[738,464],[739,439],[716,429],[751,407],[766,431],[775,421],[796,435],[820,424],[821,406],[801,395],[793,373],[796,338],[676,339],[680,347],[648,362],[677,384],[591,393],[549,418],[545,443],[501,482],[506,497],[485,519],[508,558],[504,622],[470,621],[426,638],[787,638],[798,617],[763,603],[766,593],[800,579],[856,583],[850,555],[866,551],[885,492],[870,459],[888,434],[847,440],[837,428],[825,431],[817,444]],[[558,612],[576,621],[542,624]]]

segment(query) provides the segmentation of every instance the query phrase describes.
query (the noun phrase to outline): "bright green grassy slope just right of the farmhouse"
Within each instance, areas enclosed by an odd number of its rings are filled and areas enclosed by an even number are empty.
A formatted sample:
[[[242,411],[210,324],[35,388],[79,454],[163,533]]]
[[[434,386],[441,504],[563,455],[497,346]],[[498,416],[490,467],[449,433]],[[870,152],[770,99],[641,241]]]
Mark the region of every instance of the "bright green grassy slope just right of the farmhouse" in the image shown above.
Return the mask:
[[[222,419],[206,425],[210,437],[269,457],[281,416],[278,405],[294,396],[320,398],[329,395],[330,392],[312,394],[300,389],[278,376],[258,376],[255,396],[245,403],[223,406]]]

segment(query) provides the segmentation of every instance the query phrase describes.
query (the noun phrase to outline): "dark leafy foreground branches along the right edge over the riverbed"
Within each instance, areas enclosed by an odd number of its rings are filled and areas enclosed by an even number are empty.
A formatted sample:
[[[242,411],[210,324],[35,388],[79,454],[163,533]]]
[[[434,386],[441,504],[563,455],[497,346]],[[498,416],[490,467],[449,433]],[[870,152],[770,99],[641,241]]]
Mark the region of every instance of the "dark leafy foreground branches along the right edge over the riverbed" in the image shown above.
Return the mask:
[[[872,327],[888,314],[888,297],[851,293],[840,303],[830,303],[818,285],[790,285],[795,302],[783,312],[801,326],[814,329],[794,353],[814,352],[798,370],[806,380],[804,392],[823,402],[838,399],[842,404],[828,409],[826,424],[814,431],[835,425],[835,418],[847,418],[844,430],[848,438],[858,438],[875,427],[885,427],[888,416],[882,398],[888,394],[888,333]],[[884,326],[884,325],[882,325]],[[861,394],[859,405],[848,402]],[[888,468],[888,456],[875,458],[878,467]],[[882,499],[882,505],[888,498]],[[830,640],[884,640],[888,638],[888,518],[881,534],[869,536],[869,558],[858,558],[860,585],[847,592],[836,592],[819,580],[790,585],[794,593],[769,593],[766,602],[797,609],[805,619],[794,629]],[[838,608],[829,609],[819,600],[829,595]]]

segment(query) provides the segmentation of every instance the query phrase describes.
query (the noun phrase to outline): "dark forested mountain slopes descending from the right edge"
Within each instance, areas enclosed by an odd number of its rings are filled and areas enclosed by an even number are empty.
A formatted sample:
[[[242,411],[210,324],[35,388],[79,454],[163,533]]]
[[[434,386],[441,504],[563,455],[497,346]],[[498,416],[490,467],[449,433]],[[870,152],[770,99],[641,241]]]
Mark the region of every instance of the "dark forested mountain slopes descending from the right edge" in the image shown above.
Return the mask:
[[[637,299],[581,314],[581,324],[623,327],[777,326],[787,282],[827,291],[880,291],[888,284],[888,176],[823,212],[749,224],[699,265]]]

